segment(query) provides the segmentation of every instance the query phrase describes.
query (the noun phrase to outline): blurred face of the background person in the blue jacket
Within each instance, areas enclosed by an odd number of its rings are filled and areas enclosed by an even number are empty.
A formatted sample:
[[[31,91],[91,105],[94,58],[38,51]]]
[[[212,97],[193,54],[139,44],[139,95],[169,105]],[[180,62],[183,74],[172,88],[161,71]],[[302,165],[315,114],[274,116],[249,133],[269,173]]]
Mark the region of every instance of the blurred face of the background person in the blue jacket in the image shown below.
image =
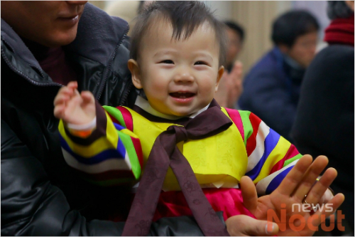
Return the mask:
[[[286,54],[307,68],[315,58],[317,38],[317,31],[298,37],[293,46],[286,50]]]

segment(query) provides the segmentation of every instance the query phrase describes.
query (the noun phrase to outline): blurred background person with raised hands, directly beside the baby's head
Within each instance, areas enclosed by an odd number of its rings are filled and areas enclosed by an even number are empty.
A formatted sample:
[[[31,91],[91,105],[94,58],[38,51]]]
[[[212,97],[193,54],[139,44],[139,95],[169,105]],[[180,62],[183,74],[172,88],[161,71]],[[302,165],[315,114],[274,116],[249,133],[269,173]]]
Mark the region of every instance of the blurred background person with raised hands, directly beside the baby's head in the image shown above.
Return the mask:
[[[220,80],[215,99],[219,105],[229,108],[236,107],[236,102],[243,91],[242,76],[243,64],[236,60],[244,41],[244,29],[234,21],[224,21],[226,24],[226,34],[229,39],[226,53],[226,69],[222,80]]]

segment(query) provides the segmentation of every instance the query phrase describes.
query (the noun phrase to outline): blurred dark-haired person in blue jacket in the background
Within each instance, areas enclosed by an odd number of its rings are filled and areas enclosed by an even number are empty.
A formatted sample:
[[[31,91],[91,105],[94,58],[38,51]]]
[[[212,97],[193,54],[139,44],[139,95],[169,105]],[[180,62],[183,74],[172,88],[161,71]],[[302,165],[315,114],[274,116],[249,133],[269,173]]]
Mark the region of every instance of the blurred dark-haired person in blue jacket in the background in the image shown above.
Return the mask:
[[[303,75],[315,56],[317,20],[307,11],[288,11],[273,23],[275,47],[251,68],[239,98],[250,110],[286,139],[295,120]]]

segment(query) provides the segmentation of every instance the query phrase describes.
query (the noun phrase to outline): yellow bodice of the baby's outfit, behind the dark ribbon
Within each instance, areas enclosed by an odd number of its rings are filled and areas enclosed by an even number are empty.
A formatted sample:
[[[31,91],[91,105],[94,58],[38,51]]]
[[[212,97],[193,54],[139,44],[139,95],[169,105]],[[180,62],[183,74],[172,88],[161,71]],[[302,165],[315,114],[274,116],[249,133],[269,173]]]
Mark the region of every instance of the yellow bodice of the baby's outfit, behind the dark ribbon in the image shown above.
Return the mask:
[[[175,124],[151,122],[137,112],[127,109],[133,118],[133,133],[141,140],[145,166],[156,137]],[[229,117],[223,107],[222,111]],[[202,187],[234,187],[246,172],[248,164],[246,147],[234,123],[218,135],[180,142],[178,148],[190,162],[197,181]],[[180,190],[170,167],[164,180],[163,190]]]

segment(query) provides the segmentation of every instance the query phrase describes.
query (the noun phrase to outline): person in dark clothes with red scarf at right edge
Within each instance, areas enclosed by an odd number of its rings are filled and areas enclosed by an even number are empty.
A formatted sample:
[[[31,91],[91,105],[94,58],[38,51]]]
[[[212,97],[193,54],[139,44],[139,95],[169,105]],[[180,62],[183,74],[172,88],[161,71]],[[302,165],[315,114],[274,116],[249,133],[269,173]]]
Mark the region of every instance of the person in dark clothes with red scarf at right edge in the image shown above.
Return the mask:
[[[346,196],[345,232],[354,236],[354,1],[328,1],[327,14],[329,46],[307,68],[291,134],[300,152],[324,154],[337,169],[332,189]]]

